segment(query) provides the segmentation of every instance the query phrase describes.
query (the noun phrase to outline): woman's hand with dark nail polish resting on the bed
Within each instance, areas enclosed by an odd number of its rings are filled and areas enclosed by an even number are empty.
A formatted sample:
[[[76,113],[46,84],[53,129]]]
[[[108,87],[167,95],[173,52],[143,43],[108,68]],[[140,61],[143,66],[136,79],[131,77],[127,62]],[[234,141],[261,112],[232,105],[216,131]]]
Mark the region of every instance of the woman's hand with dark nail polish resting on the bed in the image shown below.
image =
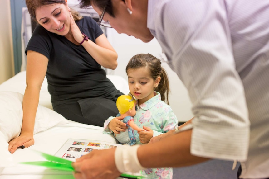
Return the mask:
[[[33,138],[33,134],[23,133],[19,137],[12,139],[9,141],[8,151],[10,153],[14,153],[18,147],[24,146],[24,148],[30,147],[35,143]]]

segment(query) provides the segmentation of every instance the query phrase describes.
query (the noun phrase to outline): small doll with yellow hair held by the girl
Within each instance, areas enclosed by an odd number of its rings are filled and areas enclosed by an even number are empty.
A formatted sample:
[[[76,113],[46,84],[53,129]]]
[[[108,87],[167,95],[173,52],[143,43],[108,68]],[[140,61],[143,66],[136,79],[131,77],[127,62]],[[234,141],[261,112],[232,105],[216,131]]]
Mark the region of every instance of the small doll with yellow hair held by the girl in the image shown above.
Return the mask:
[[[129,144],[134,145],[136,142],[136,139],[134,137],[134,131],[142,131],[144,129],[139,128],[135,122],[134,118],[132,116],[135,115],[135,99],[133,96],[130,95],[121,95],[118,97],[116,101],[116,106],[119,110],[119,113],[117,116],[123,116],[123,122],[126,124],[128,129],[125,132],[120,132],[120,134],[115,134],[115,138],[119,141],[121,144]]]

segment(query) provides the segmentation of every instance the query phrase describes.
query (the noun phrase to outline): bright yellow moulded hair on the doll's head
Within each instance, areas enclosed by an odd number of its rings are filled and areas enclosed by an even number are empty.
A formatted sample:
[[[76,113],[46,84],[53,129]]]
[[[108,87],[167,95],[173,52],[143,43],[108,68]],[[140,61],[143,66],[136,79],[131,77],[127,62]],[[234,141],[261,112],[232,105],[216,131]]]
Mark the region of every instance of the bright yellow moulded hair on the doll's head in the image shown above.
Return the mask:
[[[120,95],[116,101],[116,106],[120,114],[125,114],[135,106],[135,99],[130,95]]]

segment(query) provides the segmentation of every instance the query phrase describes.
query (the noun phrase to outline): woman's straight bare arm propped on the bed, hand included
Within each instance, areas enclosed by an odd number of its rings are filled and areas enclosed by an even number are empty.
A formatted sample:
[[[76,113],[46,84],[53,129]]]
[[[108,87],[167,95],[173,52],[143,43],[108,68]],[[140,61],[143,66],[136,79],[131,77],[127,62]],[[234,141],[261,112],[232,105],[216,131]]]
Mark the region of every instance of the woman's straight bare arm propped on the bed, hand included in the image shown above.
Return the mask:
[[[26,148],[34,144],[33,132],[37,106],[39,102],[39,92],[46,75],[48,59],[34,51],[27,52],[26,66],[26,89],[22,101],[22,130],[19,137],[9,142],[9,151],[15,150],[24,145]]]

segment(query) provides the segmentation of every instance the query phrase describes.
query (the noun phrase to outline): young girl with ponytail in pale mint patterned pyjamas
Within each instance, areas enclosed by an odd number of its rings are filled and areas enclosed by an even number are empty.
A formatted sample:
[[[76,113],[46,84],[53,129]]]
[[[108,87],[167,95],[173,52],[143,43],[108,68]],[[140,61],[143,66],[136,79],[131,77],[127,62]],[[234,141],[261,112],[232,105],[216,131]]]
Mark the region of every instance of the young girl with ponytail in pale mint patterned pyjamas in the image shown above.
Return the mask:
[[[178,120],[168,102],[169,81],[161,61],[151,54],[138,54],[127,64],[130,93],[137,99],[135,123],[144,131],[135,131],[135,144],[146,144],[152,137],[178,127]],[[120,117],[110,118],[104,133],[120,134],[126,130]],[[139,140],[138,140],[139,139]],[[172,168],[142,170],[150,179],[172,178]]]

